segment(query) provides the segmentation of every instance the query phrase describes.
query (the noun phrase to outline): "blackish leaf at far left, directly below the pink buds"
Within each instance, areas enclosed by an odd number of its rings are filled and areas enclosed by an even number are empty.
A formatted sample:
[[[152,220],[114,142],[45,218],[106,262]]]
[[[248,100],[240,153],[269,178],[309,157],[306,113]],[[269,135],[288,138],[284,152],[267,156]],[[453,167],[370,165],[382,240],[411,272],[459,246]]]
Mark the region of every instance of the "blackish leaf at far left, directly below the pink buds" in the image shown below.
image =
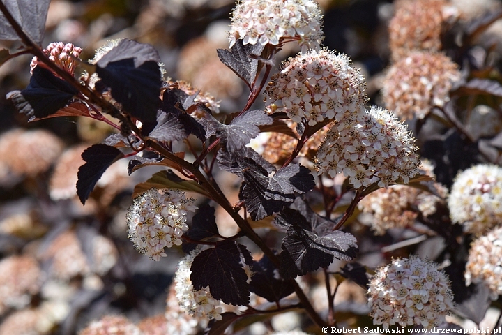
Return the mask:
[[[16,109],[30,119],[48,117],[65,107],[77,89],[50,70],[36,66],[26,89],[7,94]]]

